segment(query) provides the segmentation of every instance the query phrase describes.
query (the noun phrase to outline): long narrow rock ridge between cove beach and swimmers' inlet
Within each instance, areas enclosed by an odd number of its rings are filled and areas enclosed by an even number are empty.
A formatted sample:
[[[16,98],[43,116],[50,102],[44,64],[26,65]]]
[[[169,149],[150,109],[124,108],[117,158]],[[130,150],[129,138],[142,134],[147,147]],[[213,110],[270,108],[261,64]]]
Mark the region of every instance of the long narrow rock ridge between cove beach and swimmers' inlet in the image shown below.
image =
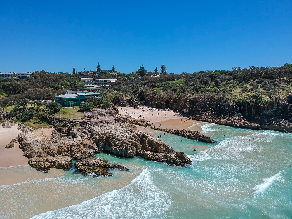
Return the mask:
[[[194,140],[198,140],[198,141],[202,141],[202,142],[207,142],[207,143],[215,143],[214,139],[211,139],[210,137],[201,134],[200,132],[197,131],[191,131],[191,130],[174,130],[174,129],[167,129],[167,128],[152,128],[155,130],[159,130],[159,131],[164,131],[173,135],[179,135],[185,138],[190,138],[190,139],[194,139]]]

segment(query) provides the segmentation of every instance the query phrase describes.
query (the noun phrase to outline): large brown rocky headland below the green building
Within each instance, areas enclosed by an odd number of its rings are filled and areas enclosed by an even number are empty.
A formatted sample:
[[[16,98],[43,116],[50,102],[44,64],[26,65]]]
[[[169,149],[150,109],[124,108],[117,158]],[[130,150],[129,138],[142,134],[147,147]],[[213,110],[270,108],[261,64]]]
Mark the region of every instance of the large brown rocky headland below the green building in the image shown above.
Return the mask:
[[[183,152],[172,153],[172,147],[146,132],[138,131],[133,124],[147,121],[120,117],[116,111],[95,111],[88,118],[48,118],[55,127],[51,138],[34,137],[29,127],[22,126],[17,139],[29,164],[41,171],[49,168],[68,169],[71,159],[82,160],[98,152],[109,152],[119,157],[166,162],[169,165],[192,164]],[[81,165],[84,166],[84,165]]]

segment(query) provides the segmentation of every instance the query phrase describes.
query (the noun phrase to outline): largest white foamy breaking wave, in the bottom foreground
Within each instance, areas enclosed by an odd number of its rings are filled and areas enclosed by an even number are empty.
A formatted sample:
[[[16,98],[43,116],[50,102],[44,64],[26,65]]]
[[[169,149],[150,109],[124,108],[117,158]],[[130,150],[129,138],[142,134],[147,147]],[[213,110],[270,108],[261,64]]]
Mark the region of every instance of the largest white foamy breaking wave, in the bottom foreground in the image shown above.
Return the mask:
[[[159,218],[172,200],[151,181],[145,169],[132,182],[120,190],[113,190],[94,199],[67,208],[35,215],[39,218]]]

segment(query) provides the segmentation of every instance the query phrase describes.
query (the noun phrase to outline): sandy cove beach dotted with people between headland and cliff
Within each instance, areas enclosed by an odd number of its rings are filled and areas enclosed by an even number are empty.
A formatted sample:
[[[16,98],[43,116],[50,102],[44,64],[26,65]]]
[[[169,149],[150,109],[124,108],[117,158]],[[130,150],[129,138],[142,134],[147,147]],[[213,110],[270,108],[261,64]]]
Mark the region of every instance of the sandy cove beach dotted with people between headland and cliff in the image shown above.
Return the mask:
[[[141,108],[143,107],[143,108]],[[127,115],[135,119],[145,119],[149,121],[151,124],[155,125],[157,128],[168,128],[168,129],[190,129],[192,131],[203,131],[201,126],[208,124],[208,122],[201,122],[189,119],[182,114],[172,111],[162,109],[154,109],[149,110],[147,106],[141,106],[140,109],[133,107],[119,107],[120,115]],[[142,117],[139,117],[142,115]],[[143,118],[144,117],[144,118]],[[140,131],[152,132],[153,129],[147,127],[143,129],[142,126],[137,126]]]

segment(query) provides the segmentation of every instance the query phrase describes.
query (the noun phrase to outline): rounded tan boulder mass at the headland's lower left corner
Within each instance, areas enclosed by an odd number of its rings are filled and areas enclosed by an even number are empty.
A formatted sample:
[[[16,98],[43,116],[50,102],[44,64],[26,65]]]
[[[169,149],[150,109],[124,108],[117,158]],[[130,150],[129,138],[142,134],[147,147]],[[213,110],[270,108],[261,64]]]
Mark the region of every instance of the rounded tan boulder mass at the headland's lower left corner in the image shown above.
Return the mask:
[[[46,157],[32,157],[28,164],[39,171],[46,171],[52,167],[57,169],[68,170],[72,166],[72,159],[68,156],[46,156]]]

